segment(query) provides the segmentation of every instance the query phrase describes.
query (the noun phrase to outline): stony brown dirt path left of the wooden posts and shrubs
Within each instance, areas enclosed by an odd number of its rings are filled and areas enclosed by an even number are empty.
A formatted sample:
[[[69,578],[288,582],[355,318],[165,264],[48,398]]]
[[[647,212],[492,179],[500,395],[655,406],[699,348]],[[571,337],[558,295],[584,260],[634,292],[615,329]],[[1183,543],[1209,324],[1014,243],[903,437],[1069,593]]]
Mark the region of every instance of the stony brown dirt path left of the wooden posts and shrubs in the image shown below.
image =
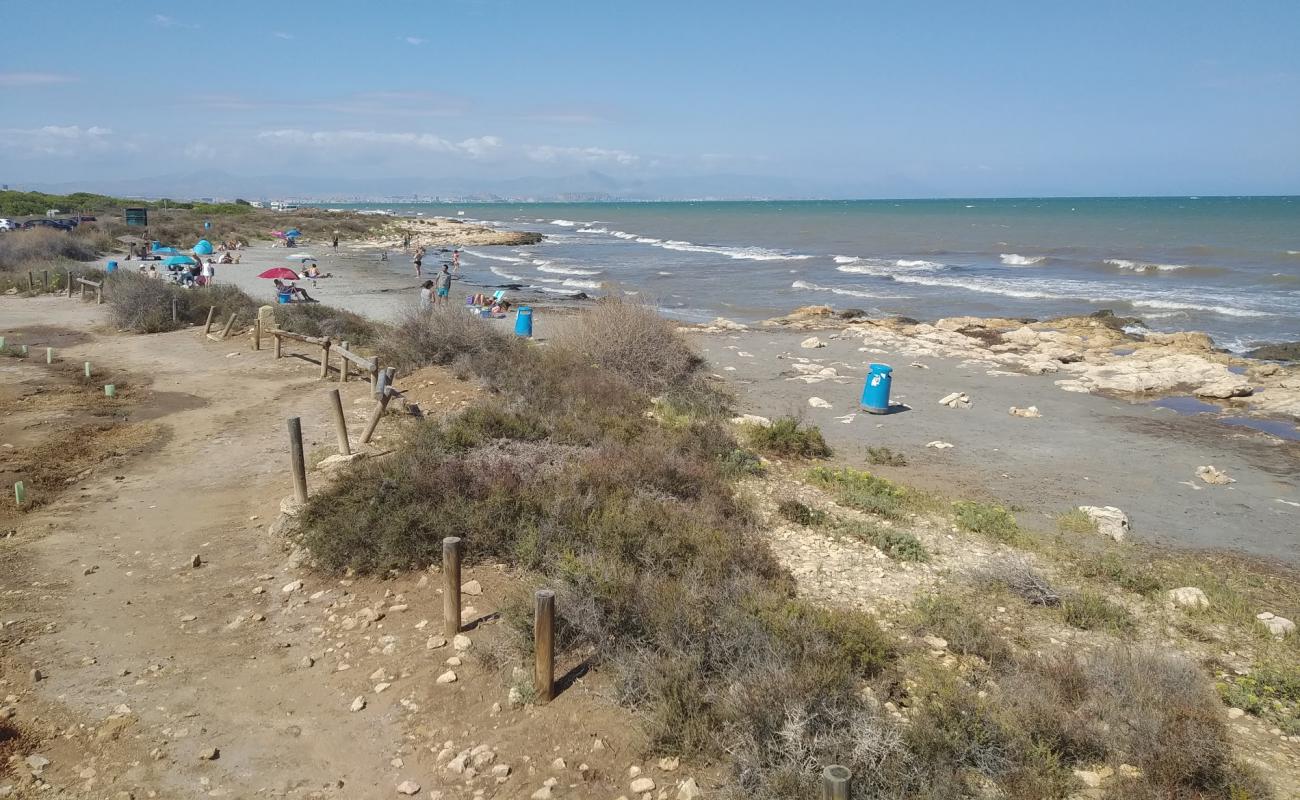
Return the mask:
[[[8,330],[87,330],[103,311],[0,299],[0,319]],[[18,722],[57,736],[40,743],[49,764],[32,770],[35,782],[23,764],[0,770],[0,790],[16,783],[13,796],[38,796],[48,782],[66,792],[56,796],[391,797],[412,780],[424,797],[528,797],[550,775],[556,791],[619,793],[634,726],[582,682],[542,710],[502,709],[508,683],[490,665],[430,639],[437,579],[313,575],[268,535],[289,487],[285,418],[302,416],[308,454],[334,444],[315,367],[254,354],[243,340],[202,342],[192,330],[100,330],[60,356],[150,384],[136,412],[157,415],[165,444],[23,515],[17,544],[5,544],[0,614],[27,635],[6,653],[0,699]],[[343,386],[354,424],[369,408],[354,401],[368,389]],[[477,614],[511,588],[490,567],[468,570],[471,579],[484,587],[467,598]],[[489,647],[493,628],[471,632],[473,647]],[[448,665],[459,680],[436,683]],[[31,667],[39,682],[25,679]],[[350,710],[356,697],[364,710]],[[569,734],[556,738],[558,723]],[[454,769],[454,756],[473,747],[481,769]]]

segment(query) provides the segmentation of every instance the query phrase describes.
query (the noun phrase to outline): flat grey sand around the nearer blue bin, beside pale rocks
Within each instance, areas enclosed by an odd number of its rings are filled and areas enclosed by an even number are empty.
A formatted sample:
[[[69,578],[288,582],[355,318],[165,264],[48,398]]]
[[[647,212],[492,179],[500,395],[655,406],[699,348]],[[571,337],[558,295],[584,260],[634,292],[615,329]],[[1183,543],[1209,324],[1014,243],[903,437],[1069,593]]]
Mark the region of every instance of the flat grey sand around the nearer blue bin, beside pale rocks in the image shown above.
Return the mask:
[[[1023,518],[1040,515],[1028,519],[1036,527],[1050,527],[1052,518],[1075,506],[1118,506],[1132,520],[1135,539],[1300,563],[1300,442],[1148,403],[1062,392],[1054,376],[991,376],[987,366],[937,358],[919,359],[928,369],[909,367],[918,359],[861,353],[855,337],[823,333],[827,347],[801,349],[809,336],[750,330],[694,341],[733,381],[744,411],[818,424],[837,462],[866,466],[868,446],[887,446],[905,454],[909,466],[867,468],[953,496],[1015,505],[1027,510]],[[798,375],[796,358],[854,377],[788,380]],[[894,367],[892,399],[910,410],[854,414],[871,362]],[[952,392],[967,393],[971,407],[940,406]],[[810,407],[811,397],[833,407]],[[1037,406],[1043,418],[1011,416],[1011,406]],[[852,421],[837,419],[849,414]],[[931,441],[953,447],[926,447]],[[1196,468],[1204,464],[1226,470],[1236,483],[1202,483]]]

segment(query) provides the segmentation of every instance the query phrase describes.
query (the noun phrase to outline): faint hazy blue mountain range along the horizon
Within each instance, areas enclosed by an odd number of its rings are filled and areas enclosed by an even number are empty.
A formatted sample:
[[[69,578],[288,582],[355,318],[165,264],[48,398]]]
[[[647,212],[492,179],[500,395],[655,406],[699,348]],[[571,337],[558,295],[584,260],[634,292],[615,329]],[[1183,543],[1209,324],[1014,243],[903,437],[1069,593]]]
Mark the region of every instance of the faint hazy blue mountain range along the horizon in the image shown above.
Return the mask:
[[[214,198],[248,200],[285,199],[315,202],[402,200],[757,200],[757,199],[846,199],[874,196],[866,183],[833,186],[772,176],[710,174],[667,178],[620,178],[589,170],[560,177],[485,180],[469,177],[318,178],[307,176],[235,176],[209,169],[146,178],[90,180],[62,183],[32,183],[52,194],[92,191],[140,198]],[[876,187],[879,191],[879,187]],[[922,191],[923,187],[916,187]],[[897,196],[894,194],[894,196]]]

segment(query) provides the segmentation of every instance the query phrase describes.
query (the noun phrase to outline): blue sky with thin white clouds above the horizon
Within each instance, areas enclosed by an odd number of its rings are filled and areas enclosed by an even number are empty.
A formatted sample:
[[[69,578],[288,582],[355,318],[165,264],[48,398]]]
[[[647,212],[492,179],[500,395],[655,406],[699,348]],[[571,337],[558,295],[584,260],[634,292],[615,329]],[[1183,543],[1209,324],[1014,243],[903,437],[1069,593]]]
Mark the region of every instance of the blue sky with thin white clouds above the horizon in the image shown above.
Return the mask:
[[[58,9],[0,0],[3,183],[1300,194],[1295,0]]]

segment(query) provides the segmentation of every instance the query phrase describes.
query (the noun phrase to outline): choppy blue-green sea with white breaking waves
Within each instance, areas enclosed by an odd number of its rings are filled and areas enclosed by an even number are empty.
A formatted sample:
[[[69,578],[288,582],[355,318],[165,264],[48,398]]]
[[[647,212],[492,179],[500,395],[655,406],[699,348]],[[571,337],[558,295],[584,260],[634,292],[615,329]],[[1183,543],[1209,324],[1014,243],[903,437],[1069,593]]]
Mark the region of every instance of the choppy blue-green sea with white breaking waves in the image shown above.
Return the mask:
[[[822,303],[920,320],[1112,310],[1235,351],[1300,341],[1300,196],[348,208],[534,230],[537,246],[463,251],[467,278],[690,321]]]

